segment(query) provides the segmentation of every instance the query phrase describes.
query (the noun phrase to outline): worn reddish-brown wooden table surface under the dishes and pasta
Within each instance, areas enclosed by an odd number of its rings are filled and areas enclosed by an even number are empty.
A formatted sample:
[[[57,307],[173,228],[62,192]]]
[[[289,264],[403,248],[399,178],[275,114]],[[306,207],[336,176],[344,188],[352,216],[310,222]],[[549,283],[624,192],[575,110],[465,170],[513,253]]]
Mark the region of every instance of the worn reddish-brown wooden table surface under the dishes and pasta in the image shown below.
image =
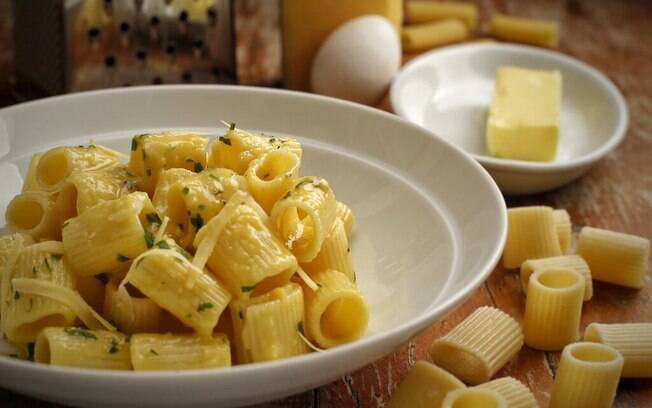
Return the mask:
[[[494,12],[560,21],[560,50],[605,73],[625,95],[630,124],[625,141],[584,177],[559,190],[506,197],[508,206],[544,204],[566,208],[574,232],[583,225],[652,237],[652,2],[646,0],[478,0],[482,21]],[[406,60],[411,56],[406,56]],[[387,98],[380,107],[391,111]],[[594,283],[584,304],[582,327],[590,322],[652,321],[652,279],[636,291]],[[382,407],[415,361],[428,360],[430,343],[447,333],[475,308],[499,307],[521,321],[524,296],[517,273],[497,267],[489,280],[438,324],[386,356],[340,380],[257,407]],[[559,353],[523,347],[497,376],[527,384],[541,406],[552,389]],[[55,405],[0,389],[0,405]],[[620,382],[615,407],[652,407],[652,379]]]

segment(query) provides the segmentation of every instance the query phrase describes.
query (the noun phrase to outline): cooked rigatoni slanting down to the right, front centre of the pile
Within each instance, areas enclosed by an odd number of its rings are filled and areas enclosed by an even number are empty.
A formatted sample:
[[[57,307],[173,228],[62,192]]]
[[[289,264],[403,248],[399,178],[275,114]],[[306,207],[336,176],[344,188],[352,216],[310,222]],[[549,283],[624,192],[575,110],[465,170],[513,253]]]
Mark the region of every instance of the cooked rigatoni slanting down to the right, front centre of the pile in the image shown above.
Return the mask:
[[[138,257],[121,286],[127,282],[201,335],[213,332],[231,300],[210,274],[172,249],[152,249]]]

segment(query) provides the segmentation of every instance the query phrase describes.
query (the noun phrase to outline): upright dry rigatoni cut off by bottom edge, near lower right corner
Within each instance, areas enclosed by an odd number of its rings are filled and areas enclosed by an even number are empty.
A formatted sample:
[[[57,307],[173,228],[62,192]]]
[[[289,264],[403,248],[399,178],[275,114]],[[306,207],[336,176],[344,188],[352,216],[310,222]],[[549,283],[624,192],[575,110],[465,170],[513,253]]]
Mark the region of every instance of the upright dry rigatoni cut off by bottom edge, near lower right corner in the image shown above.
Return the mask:
[[[608,408],[614,401],[623,357],[600,343],[564,348],[550,395],[550,408]]]

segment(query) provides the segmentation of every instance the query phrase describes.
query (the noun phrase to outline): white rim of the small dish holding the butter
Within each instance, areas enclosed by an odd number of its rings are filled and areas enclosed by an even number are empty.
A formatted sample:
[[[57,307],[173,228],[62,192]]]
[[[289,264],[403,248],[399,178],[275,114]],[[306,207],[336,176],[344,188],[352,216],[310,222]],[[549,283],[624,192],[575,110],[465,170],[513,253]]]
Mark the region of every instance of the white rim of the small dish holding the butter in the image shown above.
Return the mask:
[[[404,104],[399,102],[401,97],[398,95],[398,89],[400,84],[405,81],[406,78],[409,78],[409,75],[413,70],[428,63],[429,60],[433,58],[433,56],[444,57],[447,54],[456,54],[459,52],[473,53],[487,50],[511,51],[522,53],[524,55],[533,55],[539,58],[547,58],[554,62],[568,64],[577,68],[582,74],[591,78],[593,82],[599,84],[607,92],[608,98],[611,99],[611,101],[613,101],[613,103],[616,105],[617,125],[614,132],[612,132],[606,141],[596,149],[593,149],[589,153],[574,157],[563,162],[530,162],[524,160],[501,159],[488,155],[466,152],[474,159],[479,161],[483,166],[487,166],[488,168],[496,170],[518,170],[524,173],[555,173],[560,171],[573,170],[576,168],[588,166],[600,160],[602,157],[606,156],[609,152],[614,150],[625,138],[627,127],[629,125],[629,109],[627,107],[627,101],[625,100],[618,87],[616,87],[616,85],[606,75],[598,71],[596,68],[588,65],[587,63],[580,61],[577,58],[563,54],[559,51],[523,44],[476,42],[470,44],[467,43],[450,45],[421,54],[405,64],[392,81],[389,95],[392,109],[394,112],[396,112],[397,115],[406,120],[409,120],[408,112],[404,108]],[[445,139],[445,137],[441,137]]]

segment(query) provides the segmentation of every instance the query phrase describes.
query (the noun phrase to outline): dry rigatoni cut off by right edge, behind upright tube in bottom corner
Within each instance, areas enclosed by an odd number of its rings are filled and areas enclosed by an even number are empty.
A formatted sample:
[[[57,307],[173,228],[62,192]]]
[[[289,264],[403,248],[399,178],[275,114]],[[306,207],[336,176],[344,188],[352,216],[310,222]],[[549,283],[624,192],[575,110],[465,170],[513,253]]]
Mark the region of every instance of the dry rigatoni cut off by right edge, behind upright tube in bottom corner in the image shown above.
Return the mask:
[[[624,359],[622,377],[652,377],[652,323],[591,323],[584,341],[618,350]]]

